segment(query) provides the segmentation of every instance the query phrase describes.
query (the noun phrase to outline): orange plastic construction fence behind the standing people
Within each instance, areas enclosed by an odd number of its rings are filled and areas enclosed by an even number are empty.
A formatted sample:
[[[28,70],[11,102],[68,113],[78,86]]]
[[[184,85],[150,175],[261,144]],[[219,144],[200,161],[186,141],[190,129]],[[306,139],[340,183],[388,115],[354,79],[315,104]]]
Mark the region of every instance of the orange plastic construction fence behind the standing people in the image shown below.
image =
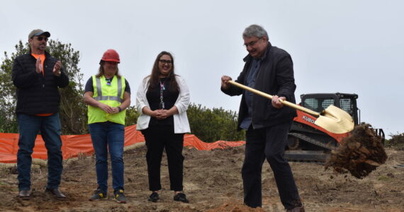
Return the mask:
[[[136,125],[125,127],[125,146],[145,141],[140,131],[136,130]],[[62,136],[63,159],[77,157],[79,153],[91,155],[94,153],[90,134]],[[195,135],[185,134],[184,146],[191,146],[198,150],[212,150],[213,148],[227,148],[232,146],[242,146],[245,141],[215,141],[205,143]],[[0,133],[0,163],[16,163],[18,151],[18,134]],[[33,149],[33,158],[47,159],[47,151],[42,136],[38,135]]]

